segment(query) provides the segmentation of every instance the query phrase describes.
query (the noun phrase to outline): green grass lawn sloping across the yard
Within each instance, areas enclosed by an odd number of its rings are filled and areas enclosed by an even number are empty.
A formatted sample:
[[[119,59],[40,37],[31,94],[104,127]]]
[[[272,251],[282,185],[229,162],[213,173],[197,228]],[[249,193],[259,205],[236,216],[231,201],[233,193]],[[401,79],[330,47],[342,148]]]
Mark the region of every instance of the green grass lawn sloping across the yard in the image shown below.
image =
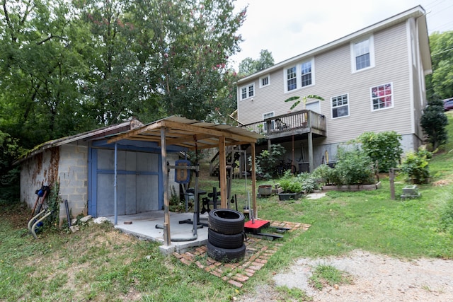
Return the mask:
[[[0,202],[0,301],[231,301],[257,284],[269,284],[273,273],[297,257],[362,249],[403,258],[453,259],[453,232],[442,225],[446,213],[453,224],[452,113],[451,139],[430,161],[432,179],[418,186],[419,199],[391,200],[386,177],[375,191],[328,192],[321,199],[291,202],[276,196],[258,199],[260,218],[310,223],[311,228],[285,237],[242,289],[196,265],[164,257],[156,243],[119,233],[108,224],[82,226],[77,233],[48,230],[35,240],[26,231],[30,211]],[[218,186],[217,178],[202,178],[202,189]],[[396,193],[405,185],[398,176]],[[252,194],[250,180],[247,185],[233,180],[232,193],[242,209]],[[294,296],[290,291],[280,294],[282,301]]]

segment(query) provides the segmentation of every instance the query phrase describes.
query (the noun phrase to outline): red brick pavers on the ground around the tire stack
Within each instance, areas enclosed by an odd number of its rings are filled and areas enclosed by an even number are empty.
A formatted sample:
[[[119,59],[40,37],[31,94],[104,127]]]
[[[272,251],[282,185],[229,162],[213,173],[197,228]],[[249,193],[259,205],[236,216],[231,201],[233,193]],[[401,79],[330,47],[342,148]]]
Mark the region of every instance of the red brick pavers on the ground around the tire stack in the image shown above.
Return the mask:
[[[289,232],[297,230],[306,231],[310,227],[309,224],[286,221],[274,221],[270,225],[289,228]],[[206,245],[193,248],[183,254],[173,252],[173,255],[185,265],[191,265],[195,262],[195,265],[200,267],[200,269],[204,269],[206,272],[221,278],[229,284],[242,287],[244,282],[253,277],[253,274],[261,267],[264,267],[270,256],[275,254],[282,245],[278,241],[248,237],[246,241],[246,255],[243,260],[234,263],[218,262],[208,257]]]

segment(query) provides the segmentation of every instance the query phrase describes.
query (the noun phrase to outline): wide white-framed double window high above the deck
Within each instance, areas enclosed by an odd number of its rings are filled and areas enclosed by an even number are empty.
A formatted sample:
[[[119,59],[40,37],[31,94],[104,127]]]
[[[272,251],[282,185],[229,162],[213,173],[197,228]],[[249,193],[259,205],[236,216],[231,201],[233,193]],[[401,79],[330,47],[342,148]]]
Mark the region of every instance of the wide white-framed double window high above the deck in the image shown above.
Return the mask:
[[[285,92],[313,84],[313,59],[285,69]]]

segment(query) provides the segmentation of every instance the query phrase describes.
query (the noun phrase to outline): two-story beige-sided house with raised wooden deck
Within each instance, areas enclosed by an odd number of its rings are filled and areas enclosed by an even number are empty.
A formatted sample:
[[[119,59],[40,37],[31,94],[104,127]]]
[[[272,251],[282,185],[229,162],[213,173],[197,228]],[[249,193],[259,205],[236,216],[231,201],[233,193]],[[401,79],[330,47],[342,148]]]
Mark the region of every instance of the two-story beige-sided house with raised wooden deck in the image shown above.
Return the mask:
[[[338,145],[363,132],[394,130],[404,151],[417,149],[431,68],[425,10],[416,6],[239,80],[238,120],[285,146],[299,170],[335,161]],[[289,110],[285,100],[306,95],[324,100]]]

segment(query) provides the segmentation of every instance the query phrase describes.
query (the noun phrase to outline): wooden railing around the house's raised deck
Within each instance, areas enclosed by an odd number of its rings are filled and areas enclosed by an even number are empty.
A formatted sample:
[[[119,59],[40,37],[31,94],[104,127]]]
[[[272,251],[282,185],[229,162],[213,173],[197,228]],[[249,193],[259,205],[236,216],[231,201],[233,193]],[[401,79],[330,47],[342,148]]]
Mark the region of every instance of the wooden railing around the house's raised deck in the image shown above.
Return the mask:
[[[306,132],[314,131],[326,135],[326,117],[311,110],[300,110],[270,117],[260,122],[245,124],[243,127],[267,137],[271,137],[274,134],[284,135],[282,132],[288,132],[288,135],[291,135],[297,129],[306,129]]]

